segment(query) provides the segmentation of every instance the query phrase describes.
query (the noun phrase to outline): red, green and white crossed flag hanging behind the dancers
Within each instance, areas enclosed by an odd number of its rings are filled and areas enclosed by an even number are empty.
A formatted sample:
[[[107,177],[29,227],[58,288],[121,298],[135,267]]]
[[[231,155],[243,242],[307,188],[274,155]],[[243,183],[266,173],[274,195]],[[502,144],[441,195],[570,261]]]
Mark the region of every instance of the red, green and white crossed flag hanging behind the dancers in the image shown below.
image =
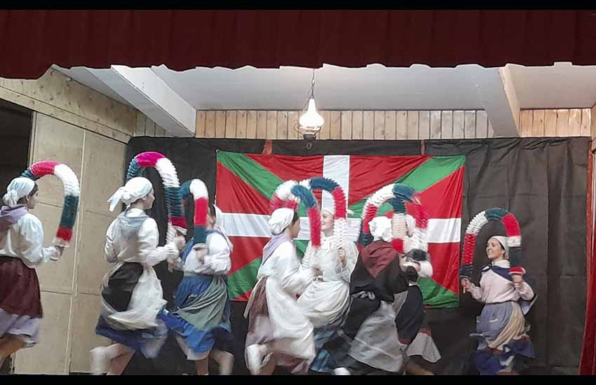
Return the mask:
[[[464,156],[360,156],[254,155],[217,152],[216,203],[224,212],[224,228],[233,242],[229,294],[231,300],[246,301],[257,282],[262,248],[269,241],[269,200],[283,181],[301,181],[312,176],[333,179],[348,197],[348,238],[356,241],[360,216],[367,197],[393,182],[405,183],[421,193],[430,215],[428,252],[433,278],[420,282],[425,303],[431,307],[459,304],[459,241]],[[331,195],[315,193],[323,207]],[[390,215],[384,204],[379,214]],[[296,246],[299,256],[306,249],[309,222],[306,212]]]

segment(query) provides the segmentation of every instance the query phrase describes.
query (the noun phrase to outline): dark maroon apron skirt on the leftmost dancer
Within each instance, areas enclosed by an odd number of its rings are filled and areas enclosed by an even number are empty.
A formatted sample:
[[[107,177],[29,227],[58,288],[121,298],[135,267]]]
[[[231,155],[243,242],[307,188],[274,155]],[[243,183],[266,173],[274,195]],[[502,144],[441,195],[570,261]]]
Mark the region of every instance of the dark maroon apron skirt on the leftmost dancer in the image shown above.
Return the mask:
[[[37,273],[20,258],[0,257],[0,308],[9,314],[43,316]]]

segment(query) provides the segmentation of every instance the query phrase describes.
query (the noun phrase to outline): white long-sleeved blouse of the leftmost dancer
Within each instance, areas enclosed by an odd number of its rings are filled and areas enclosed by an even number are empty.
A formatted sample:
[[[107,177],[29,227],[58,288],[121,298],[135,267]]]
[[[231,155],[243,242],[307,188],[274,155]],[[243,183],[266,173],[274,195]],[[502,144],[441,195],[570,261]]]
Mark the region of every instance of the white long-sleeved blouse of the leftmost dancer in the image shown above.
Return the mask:
[[[43,226],[31,213],[22,216],[0,239],[0,255],[20,258],[29,268],[48,260],[59,260],[60,251],[55,246],[43,247]]]

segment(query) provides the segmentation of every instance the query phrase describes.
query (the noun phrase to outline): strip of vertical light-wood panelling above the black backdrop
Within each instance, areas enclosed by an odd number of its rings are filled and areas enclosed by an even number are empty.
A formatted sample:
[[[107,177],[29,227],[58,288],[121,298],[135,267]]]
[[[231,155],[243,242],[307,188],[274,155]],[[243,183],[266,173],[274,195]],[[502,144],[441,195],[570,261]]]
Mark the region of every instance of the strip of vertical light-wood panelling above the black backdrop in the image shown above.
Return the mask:
[[[196,137],[302,139],[294,130],[302,111],[197,111]],[[320,111],[325,124],[317,139],[400,140],[494,137],[486,111]],[[520,111],[520,137],[589,136],[590,109]],[[165,131],[142,114],[135,136]]]

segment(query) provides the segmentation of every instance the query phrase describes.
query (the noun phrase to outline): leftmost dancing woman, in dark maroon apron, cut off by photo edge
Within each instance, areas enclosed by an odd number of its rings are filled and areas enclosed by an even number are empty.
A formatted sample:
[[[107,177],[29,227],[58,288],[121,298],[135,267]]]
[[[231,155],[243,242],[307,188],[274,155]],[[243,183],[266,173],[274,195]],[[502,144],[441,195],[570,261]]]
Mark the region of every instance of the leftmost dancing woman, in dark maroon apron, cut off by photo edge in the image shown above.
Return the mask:
[[[43,247],[43,227],[29,211],[39,200],[37,184],[16,178],[0,210],[0,367],[15,351],[39,340],[43,317],[35,268],[62,256],[61,246]]]

